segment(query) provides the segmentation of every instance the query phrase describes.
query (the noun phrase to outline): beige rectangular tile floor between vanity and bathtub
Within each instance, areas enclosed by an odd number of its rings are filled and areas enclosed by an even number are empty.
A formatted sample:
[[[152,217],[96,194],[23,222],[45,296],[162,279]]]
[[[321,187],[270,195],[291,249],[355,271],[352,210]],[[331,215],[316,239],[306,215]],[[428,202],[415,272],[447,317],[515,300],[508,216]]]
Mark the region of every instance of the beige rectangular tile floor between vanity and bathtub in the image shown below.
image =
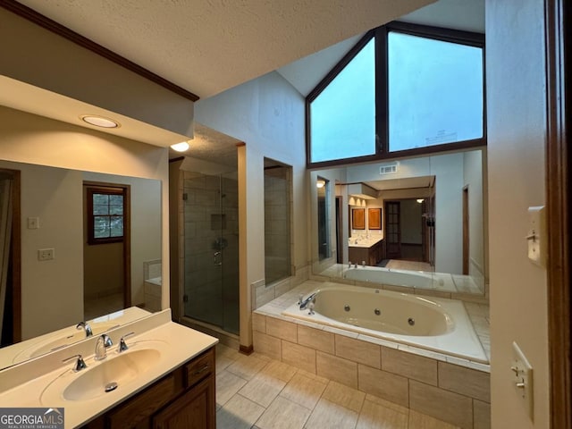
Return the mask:
[[[256,352],[216,346],[217,429],[454,429]]]

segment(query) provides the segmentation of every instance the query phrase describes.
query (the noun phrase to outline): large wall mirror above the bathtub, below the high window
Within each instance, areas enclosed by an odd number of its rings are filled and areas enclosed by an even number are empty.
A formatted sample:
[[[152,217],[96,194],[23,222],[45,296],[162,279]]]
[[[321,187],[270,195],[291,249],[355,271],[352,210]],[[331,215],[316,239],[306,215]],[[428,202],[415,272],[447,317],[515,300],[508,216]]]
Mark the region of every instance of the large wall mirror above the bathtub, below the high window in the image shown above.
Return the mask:
[[[326,204],[336,251],[327,261],[316,254],[313,273],[484,296],[485,168],[485,149],[476,149],[310,172],[335,183]],[[358,224],[357,214],[365,217]]]

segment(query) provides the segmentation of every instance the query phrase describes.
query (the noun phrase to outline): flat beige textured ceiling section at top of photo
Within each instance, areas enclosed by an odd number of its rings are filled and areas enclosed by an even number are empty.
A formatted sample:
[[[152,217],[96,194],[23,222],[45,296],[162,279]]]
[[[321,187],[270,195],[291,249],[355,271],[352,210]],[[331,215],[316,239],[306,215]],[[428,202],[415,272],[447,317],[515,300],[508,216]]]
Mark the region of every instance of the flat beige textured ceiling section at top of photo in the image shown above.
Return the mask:
[[[434,0],[19,1],[210,97]]]

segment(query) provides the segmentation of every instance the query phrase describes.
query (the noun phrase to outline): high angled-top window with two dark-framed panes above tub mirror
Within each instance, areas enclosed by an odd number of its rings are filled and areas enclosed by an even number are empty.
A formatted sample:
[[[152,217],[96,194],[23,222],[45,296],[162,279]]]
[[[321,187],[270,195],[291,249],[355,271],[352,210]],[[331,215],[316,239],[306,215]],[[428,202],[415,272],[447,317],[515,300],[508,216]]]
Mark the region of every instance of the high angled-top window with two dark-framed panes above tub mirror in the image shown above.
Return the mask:
[[[307,97],[307,165],[484,146],[484,35],[392,22]]]

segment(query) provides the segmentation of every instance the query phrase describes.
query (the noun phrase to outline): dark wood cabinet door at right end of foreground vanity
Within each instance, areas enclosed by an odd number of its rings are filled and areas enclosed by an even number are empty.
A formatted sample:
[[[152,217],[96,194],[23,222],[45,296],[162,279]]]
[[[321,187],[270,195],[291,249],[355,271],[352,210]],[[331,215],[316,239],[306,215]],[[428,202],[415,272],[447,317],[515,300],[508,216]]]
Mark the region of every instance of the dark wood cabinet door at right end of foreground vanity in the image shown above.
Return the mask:
[[[214,377],[198,383],[153,416],[154,429],[214,429]]]

